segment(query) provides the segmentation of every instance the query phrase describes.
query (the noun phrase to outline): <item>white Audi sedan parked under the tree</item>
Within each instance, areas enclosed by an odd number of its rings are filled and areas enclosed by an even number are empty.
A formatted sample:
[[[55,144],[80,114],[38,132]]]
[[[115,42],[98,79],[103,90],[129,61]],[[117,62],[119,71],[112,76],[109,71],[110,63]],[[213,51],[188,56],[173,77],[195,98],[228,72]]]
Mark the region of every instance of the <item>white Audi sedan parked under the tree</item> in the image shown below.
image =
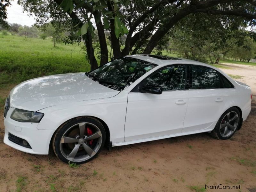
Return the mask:
[[[85,163],[108,148],[201,132],[229,139],[251,111],[248,85],[201,62],[129,55],[87,73],[14,87],[4,108],[4,143],[32,154],[53,148]]]

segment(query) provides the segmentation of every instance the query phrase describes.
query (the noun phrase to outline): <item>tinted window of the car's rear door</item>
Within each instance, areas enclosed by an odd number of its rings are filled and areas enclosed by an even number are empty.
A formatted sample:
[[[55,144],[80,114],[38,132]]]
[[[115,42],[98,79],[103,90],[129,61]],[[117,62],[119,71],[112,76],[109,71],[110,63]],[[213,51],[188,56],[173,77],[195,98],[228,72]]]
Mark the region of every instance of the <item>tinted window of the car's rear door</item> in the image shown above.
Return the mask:
[[[220,76],[212,68],[203,66],[190,66],[192,75],[191,89],[215,89],[220,88]]]

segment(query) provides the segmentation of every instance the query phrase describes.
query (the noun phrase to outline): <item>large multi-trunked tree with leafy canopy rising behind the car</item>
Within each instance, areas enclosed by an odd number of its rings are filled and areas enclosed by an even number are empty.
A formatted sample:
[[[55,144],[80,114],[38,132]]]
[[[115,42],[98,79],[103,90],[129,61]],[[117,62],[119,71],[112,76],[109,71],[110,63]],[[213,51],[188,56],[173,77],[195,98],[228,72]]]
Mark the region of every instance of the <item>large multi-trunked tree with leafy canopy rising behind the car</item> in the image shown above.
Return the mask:
[[[96,28],[100,43],[100,65],[108,61],[105,30],[110,33],[114,58],[141,49],[150,54],[159,41],[181,20],[191,14],[225,15],[234,20],[256,24],[253,0],[19,0],[25,11],[34,13],[36,25],[67,25],[70,41],[84,41],[91,68],[97,67],[92,38]],[[235,16],[235,17],[234,17]],[[231,19],[229,19],[231,18]],[[233,19],[234,18],[234,19]],[[95,23],[94,23],[95,21]],[[78,31],[78,33],[77,33]],[[127,34],[124,48],[120,36]]]

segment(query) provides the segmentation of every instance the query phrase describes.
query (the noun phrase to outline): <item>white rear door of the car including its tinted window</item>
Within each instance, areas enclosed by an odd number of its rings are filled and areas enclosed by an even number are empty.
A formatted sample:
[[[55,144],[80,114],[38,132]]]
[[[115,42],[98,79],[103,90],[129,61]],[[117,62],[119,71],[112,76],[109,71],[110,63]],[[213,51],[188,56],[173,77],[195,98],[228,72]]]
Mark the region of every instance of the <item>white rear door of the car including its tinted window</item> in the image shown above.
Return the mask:
[[[223,113],[228,97],[228,90],[222,89],[222,76],[212,68],[190,65],[189,79],[188,109],[182,132],[211,130]]]

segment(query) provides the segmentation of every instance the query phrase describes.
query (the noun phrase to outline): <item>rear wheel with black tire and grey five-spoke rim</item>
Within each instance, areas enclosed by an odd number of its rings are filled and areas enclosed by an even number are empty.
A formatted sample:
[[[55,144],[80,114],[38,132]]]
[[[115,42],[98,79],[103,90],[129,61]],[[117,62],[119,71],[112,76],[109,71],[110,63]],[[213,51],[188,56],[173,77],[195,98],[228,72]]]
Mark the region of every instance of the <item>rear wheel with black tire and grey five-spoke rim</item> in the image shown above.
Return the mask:
[[[228,117],[229,114],[229,117]],[[230,139],[239,129],[241,123],[241,114],[236,107],[231,107],[226,110],[218,120],[211,135],[219,140]]]

